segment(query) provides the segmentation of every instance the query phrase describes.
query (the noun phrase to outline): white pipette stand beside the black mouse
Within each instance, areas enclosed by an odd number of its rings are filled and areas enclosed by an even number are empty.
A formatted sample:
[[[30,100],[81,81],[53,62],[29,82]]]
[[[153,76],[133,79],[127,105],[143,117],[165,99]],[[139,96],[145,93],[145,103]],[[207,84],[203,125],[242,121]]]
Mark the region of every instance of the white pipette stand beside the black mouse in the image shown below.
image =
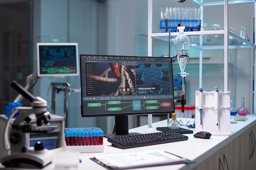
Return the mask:
[[[218,114],[214,91],[203,91],[202,125],[200,124],[199,91],[195,91],[195,132],[207,131],[213,136],[230,136],[230,92],[219,91]],[[216,120],[218,119],[218,125]]]

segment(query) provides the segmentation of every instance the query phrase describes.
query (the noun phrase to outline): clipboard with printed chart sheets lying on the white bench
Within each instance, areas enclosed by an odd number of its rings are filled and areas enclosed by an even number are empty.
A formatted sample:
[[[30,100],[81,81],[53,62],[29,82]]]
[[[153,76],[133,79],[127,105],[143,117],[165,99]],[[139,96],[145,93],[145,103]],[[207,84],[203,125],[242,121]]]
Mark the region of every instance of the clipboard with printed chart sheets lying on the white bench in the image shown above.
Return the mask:
[[[196,163],[195,161],[191,161],[159,149],[96,155],[90,159],[108,170],[124,170],[182,163]]]

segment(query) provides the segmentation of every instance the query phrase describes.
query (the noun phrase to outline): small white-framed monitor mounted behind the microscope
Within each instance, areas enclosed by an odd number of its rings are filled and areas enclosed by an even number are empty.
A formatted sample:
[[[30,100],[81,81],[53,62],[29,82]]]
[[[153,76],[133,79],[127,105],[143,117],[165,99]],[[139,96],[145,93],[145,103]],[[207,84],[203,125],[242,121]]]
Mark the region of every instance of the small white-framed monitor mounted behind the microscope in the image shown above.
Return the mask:
[[[38,77],[79,75],[77,43],[37,43],[36,45]]]

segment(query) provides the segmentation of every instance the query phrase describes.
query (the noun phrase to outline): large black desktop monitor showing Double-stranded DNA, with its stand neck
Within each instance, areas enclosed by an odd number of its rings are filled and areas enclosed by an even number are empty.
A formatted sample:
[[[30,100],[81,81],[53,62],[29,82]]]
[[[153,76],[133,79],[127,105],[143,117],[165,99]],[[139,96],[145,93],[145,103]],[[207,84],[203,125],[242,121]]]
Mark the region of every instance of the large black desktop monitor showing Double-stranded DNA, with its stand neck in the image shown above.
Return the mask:
[[[115,135],[128,135],[128,115],[175,111],[169,57],[80,55],[80,77],[82,117],[115,116]]]

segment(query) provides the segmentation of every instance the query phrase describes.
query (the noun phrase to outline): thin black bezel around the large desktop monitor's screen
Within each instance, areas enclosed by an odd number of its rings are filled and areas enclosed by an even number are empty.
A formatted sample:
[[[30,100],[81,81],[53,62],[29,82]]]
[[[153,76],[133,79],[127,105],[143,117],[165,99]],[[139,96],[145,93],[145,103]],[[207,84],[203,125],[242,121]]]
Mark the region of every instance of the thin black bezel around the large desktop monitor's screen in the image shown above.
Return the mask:
[[[83,71],[82,69],[82,64],[83,62],[81,61],[82,60],[82,56],[85,56],[85,54],[80,54],[79,55],[79,62],[80,62],[80,72]],[[149,57],[149,56],[125,56],[125,55],[90,55],[90,56],[106,56],[106,57],[111,57],[111,56],[114,56],[114,57]],[[172,73],[173,73],[173,63],[172,63],[172,60],[168,60],[168,62],[171,63],[171,69],[172,69]],[[84,111],[83,111],[83,85],[85,85],[85,82],[83,82],[83,79],[82,79],[82,73],[80,73],[80,78],[81,78],[81,116],[82,117],[104,117],[104,116],[122,116],[122,115],[149,115],[149,114],[152,114],[152,115],[156,115],[156,114],[170,114],[170,113],[175,113],[175,107],[173,108],[173,110],[171,111],[155,111],[155,112],[144,112],[144,113],[106,113],[106,114],[84,114]],[[172,81],[170,82],[173,87],[173,75],[171,77]],[[172,91],[173,92],[173,91]],[[174,95],[174,92],[173,92],[173,95]],[[174,96],[173,96],[173,106],[175,105],[175,102],[174,102]]]

